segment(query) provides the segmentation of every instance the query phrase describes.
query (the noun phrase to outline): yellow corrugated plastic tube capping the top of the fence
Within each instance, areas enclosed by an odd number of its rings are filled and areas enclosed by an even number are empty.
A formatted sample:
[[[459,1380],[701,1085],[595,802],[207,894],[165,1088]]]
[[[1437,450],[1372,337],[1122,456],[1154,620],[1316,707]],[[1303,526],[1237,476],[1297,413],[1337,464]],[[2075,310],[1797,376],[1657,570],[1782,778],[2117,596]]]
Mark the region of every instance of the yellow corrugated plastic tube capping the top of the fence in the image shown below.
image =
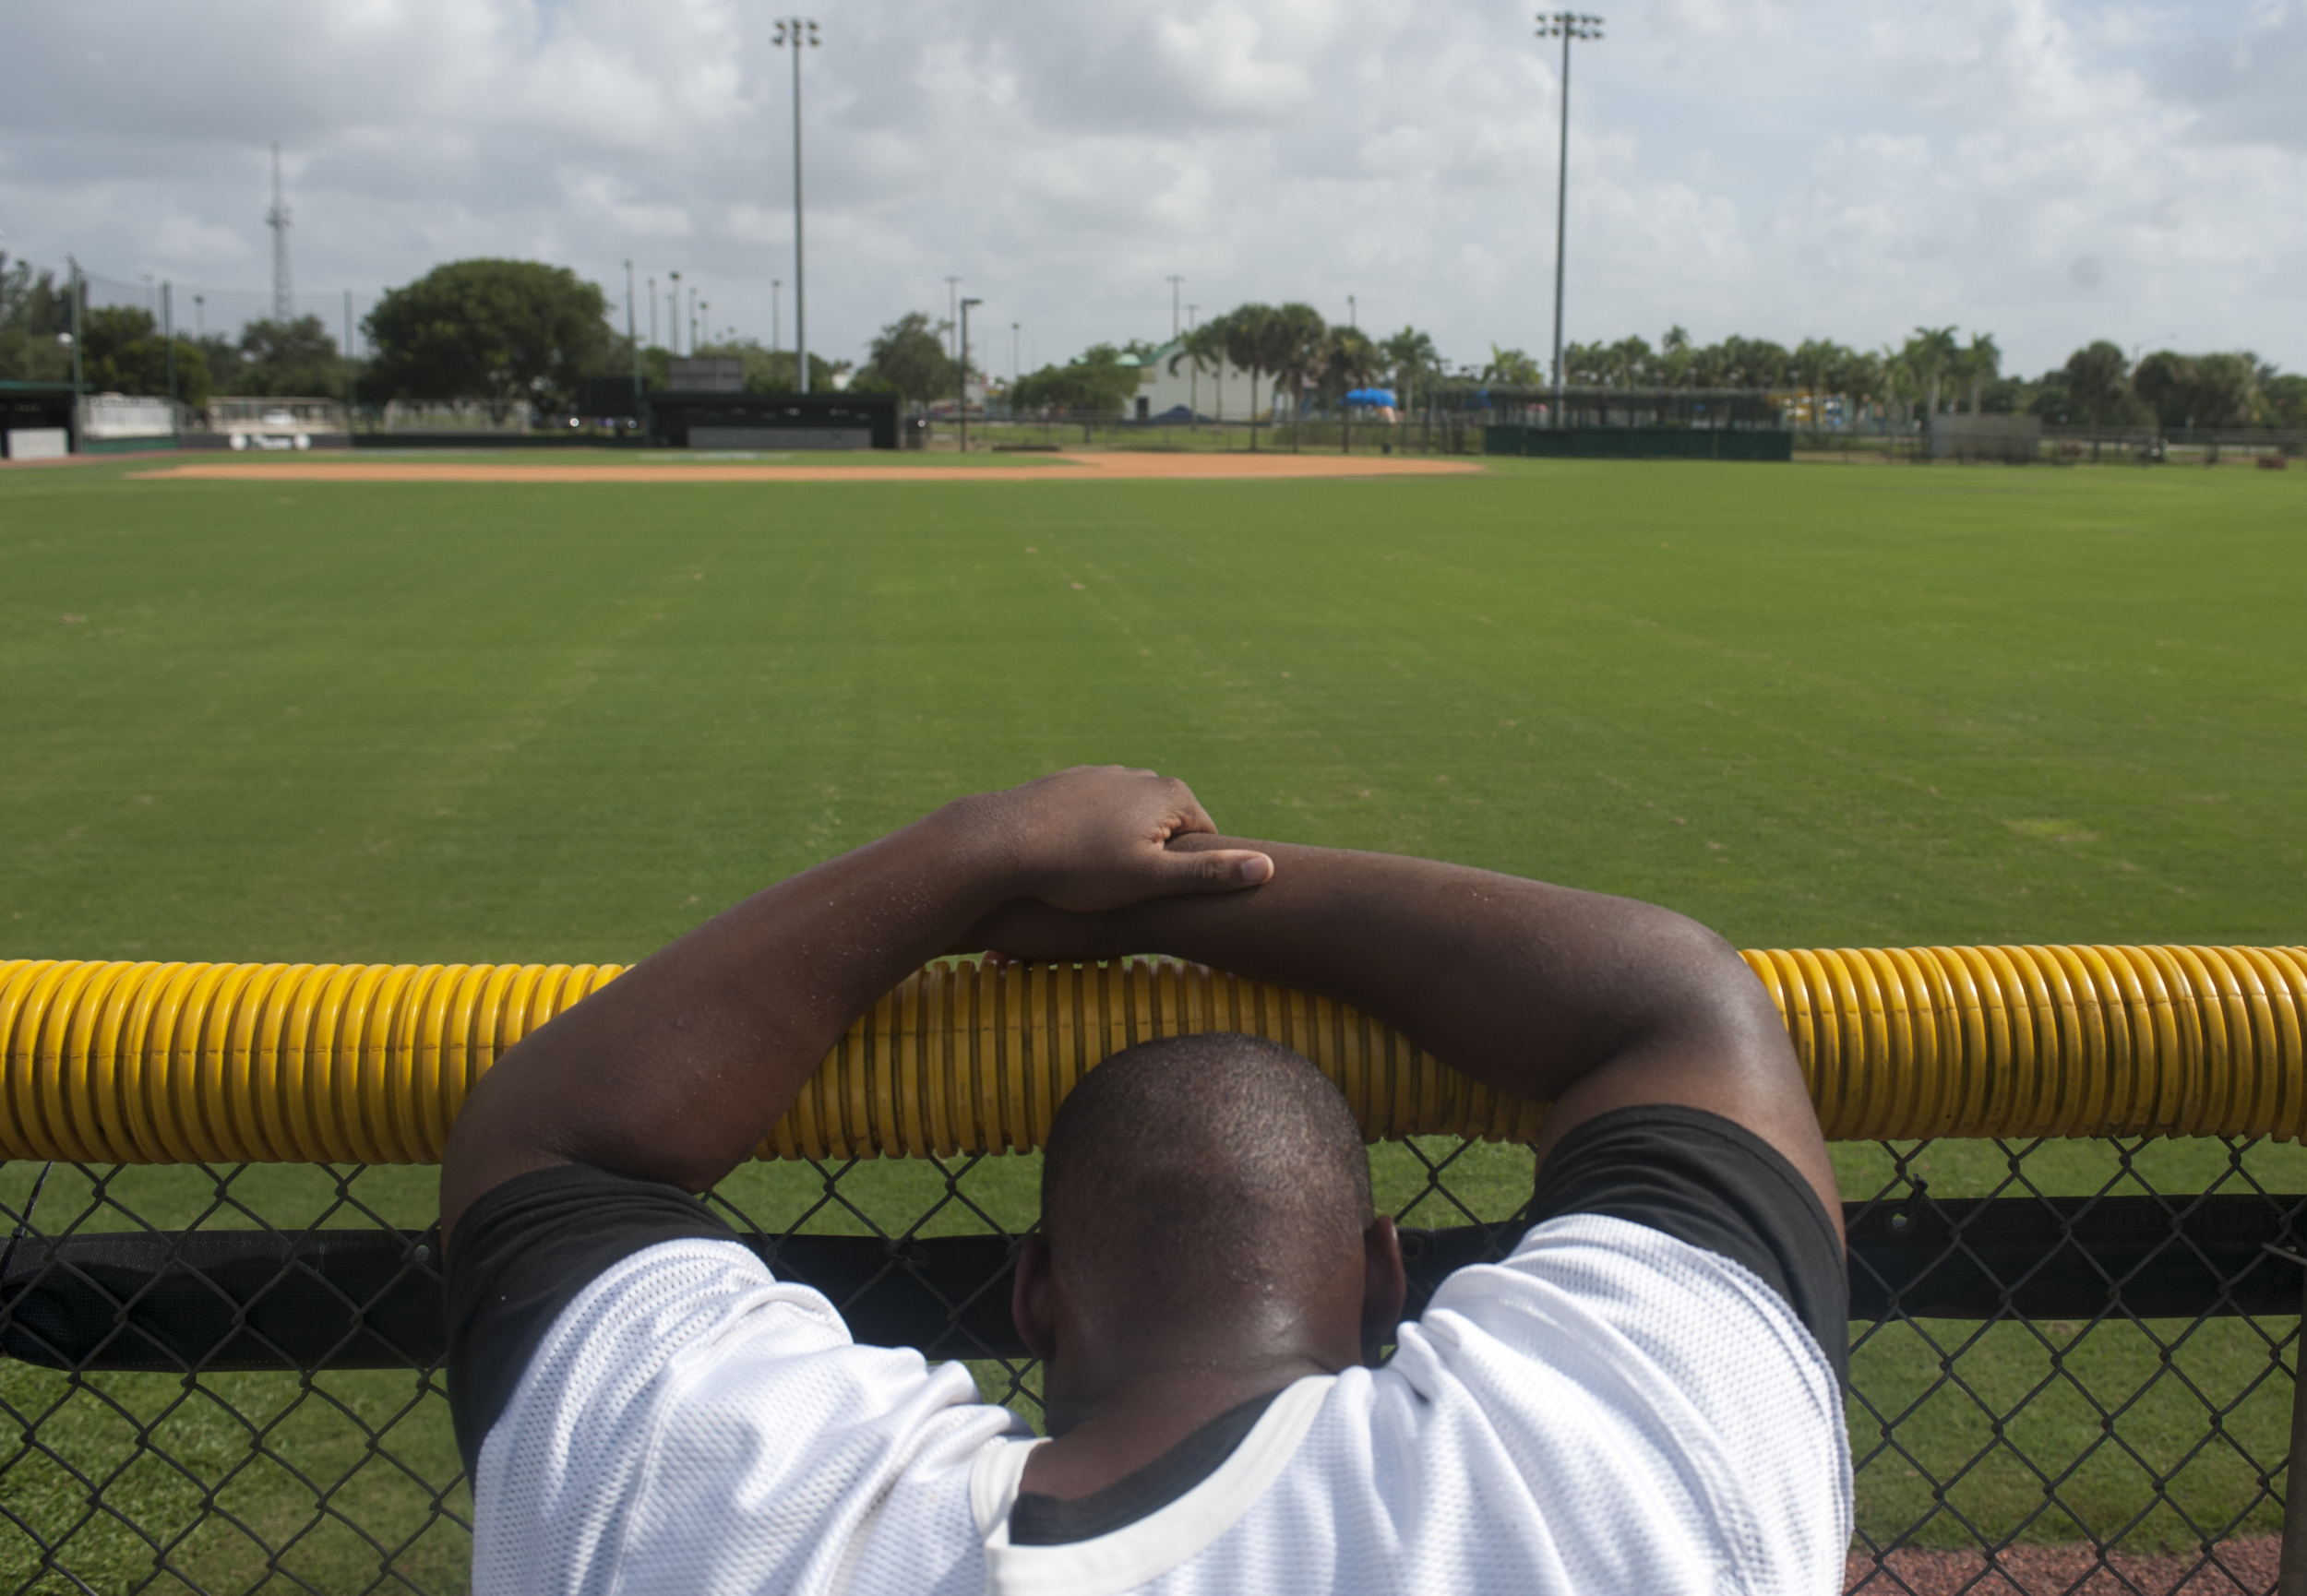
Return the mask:
[[[2307,948],[1744,955],[1829,1139],[2307,1132]],[[616,964],[0,962],[0,1158],[436,1162],[480,1075]],[[1530,1139],[1543,1107],[1345,1003],[1172,959],[932,964],[826,1056],[761,1158],[1029,1151],[1140,1040],[1248,1031],[1363,1135]]]

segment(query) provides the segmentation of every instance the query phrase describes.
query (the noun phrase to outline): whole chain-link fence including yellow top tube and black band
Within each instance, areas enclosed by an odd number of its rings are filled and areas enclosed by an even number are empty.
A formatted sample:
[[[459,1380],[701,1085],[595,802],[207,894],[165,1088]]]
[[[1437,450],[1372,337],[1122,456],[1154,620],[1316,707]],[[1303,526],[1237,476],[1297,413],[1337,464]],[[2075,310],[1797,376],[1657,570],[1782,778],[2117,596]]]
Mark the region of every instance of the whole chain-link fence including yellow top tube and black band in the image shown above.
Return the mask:
[[[1746,957],[1846,1192],[1855,1587],[1906,1589],[1901,1548],[2030,1541],[2217,1575],[2282,1527],[2307,950]],[[480,1072],[614,976],[0,962],[0,1589],[464,1589],[424,1165]],[[925,969],[708,1202],[863,1340],[967,1358],[1031,1418],[1031,1151],[1082,1070],[1211,1029],[1340,1084],[1412,1310],[1513,1243],[1539,1105],[1156,959]]]

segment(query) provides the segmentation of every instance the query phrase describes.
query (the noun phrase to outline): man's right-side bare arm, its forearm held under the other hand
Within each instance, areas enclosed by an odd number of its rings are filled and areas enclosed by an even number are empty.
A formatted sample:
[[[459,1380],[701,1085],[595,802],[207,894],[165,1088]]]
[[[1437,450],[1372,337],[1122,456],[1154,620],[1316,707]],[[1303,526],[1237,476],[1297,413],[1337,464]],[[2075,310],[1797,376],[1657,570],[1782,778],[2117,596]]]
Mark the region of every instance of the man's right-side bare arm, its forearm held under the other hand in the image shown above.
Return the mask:
[[[1260,849],[1273,881],[1112,916],[1013,904],[978,936],[1024,957],[1167,953],[1352,1003],[1474,1079],[1553,1102],[1541,1146],[1592,1114],[1682,1102],[1744,1123],[1832,1206],[1793,1045],[1714,932],[1626,897],[1391,853]]]

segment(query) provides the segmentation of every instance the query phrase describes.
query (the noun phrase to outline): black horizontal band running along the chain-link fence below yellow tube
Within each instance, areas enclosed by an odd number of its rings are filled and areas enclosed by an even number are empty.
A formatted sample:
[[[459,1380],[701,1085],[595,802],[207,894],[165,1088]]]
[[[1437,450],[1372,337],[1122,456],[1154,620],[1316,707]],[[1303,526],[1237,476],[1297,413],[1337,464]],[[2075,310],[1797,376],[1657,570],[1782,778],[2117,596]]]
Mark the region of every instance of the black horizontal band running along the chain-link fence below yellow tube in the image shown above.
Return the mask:
[[[1996,1197],[1848,1204],[1850,1317],[2141,1319],[2300,1312],[2307,1197]],[[1410,1312],[1511,1225],[1405,1229]],[[824,1292],[861,1342],[932,1358],[1022,1358],[1006,1236],[752,1236]],[[78,1370],[434,1365],[434,1232],[120,1232],[25,1239],[0,1280],[0,1349]]]

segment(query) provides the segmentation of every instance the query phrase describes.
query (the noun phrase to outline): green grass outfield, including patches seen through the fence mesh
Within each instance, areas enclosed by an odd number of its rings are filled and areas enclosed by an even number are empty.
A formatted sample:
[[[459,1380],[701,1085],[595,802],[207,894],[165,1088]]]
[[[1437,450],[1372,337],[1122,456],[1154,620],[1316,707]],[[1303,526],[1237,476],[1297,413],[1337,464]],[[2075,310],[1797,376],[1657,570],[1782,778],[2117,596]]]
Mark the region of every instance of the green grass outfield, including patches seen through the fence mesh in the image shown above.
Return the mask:
[[[2298,473],[1497,461],[1398,482],[355,487],[141,468],[0,470],[0,955],[632,959],[941,798],[1077,761],[1183,775],[1232,830],[1636,893],[1739,946],[2307,941]],[[1933,1158],[1933,1190],[2000,1169],[1979,1146]],[[2224,1162],[2155,1158],[2176,1185]],[[2293,1149],[2256,1158],[2307,1190]],[[1511,1209],[1527,1160],[1481,1160],[1465,1190]],[[1859,1190],[1883,1160],[1843,1165]],[[2030,1169],[2086,1188],[2104,1158],[2051,1149]],[[0,1172],[0,1197],[30,1174]],[[856,1190],[918,1211],[918,1176]],[[134,1179],[164,1222],[205,1192],[189,1172]],[[1398,1151],[1382,1179],[1414,1190]],[[300,1172],[247,1181],[268,1213],[325,1199]],[[791,1172],[747,1181],[771,1209],[807,1197]],[[971,1183],[1031,1211],[1029,1160]],[[362,1190],[420,1218],[429,1174]],[[74,1202],[51,1183],[42,1220]],[[2159,1379],[2125,1418],[2146,1453],[2201,1435],[2129,1331],[2088,1333],[2069,1365],[2106,1391]],[[2268,1352],[2219,1322],[2178,1365],[2240,1391]],[[2019,1393],[2049,1352],[2002,1326],[1961,1368]],[[1936,1370],[1915,1345],[1859,1358],[1883,1393]],[[233,1382],[258,1405],[293,1384]],[[152,1377],[99,1384],[136,1411],[182,1400]],[[404,1377],[328,1384],[378,1414],[411,1400]],[[0,1370],[0,1395],[37,1414],[65,1393]],[[2277,1377],[2229,1428],[2279,1455],[2286,1402]],[[392,1435],[445,1478],[438,1407]],[[203,1402],[171,1418],[196,1421],[215,1458],[245,1458]],[[307,1421],[293,1444],[314,1469],[365,1458],[309,1402],[284,1437]],[[83,1393],[42,1435],[95,1462],[125,1425]],[[1862,1451],[1871,1435],[1855,1423]],[[1940,1395],[1901,1435],[1945,1469],[1986,1428]],[[2056,1395],[2014,1435],[2083,1455],[2099,1423]],[[2212,1518],[2256,1490],[2222,1458],[2182,1478]],[[39,1469],[0,1492],[46,1478],[30,1495],[53,1525],[72,1490]],[[1901,1469],[1862,1476],[1876,1531],[1929,1508]],[[309,1492],[265,1478],[235,1485],[249,1520],[302,1522]],[[2099,1448],[2060,1495],[2111,1531],[2141,1481]],[[381,1520],[415,1513],[376,1467],[355,1485],[383,1492],[365,1508]],[[152,1515],[198,1499],[157,1465],[118,1492]],[[2039,1483],[1989,1458],[1956,1501],[2019,1527]],[[182,1557],[226,1584],[261,1571],[235,1534]],[[2166,1515],[2141,1536],[2185,1541]],[[104,1522],[74,1545],[99,1587],[148,1557]],[[0,1527],[12,1587],[21,1552]],[[339,1529],[298,1557],[321,1582],[374,1568]],[[438,1527],[404,1554],[429,1587],[459,1561]]]

